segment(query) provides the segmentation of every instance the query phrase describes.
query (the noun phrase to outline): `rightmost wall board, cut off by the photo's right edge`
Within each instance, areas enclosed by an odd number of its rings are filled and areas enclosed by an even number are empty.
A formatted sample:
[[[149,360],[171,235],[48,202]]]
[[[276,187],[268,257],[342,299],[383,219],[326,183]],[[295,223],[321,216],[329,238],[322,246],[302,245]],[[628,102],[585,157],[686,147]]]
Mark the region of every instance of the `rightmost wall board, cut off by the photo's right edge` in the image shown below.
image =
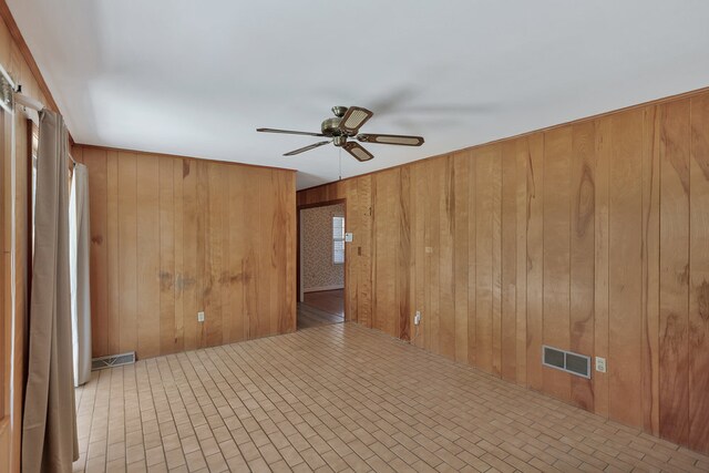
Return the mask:
[[[709,450],[709,95],[691,100],[689,446]]]

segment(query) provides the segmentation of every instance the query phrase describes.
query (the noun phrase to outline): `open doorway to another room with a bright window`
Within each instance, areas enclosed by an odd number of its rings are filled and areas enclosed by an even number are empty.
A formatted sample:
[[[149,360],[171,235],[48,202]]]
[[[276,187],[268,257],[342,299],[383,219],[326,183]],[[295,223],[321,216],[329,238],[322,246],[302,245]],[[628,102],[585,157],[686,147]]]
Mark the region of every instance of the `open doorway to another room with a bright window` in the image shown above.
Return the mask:
[[[298,330],[345,321],[345,200],[298,208]]]

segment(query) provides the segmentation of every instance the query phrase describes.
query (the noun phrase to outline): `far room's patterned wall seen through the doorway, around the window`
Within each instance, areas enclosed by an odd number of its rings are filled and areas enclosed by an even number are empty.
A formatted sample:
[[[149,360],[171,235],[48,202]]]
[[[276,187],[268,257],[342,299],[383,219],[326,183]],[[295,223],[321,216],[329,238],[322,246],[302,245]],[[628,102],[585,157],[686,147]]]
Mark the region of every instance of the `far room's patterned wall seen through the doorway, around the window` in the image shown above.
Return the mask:
[[[300,210],[305,292],[345,287],[345,264],[332,263],[332,217],[343,216],[345,204]]]

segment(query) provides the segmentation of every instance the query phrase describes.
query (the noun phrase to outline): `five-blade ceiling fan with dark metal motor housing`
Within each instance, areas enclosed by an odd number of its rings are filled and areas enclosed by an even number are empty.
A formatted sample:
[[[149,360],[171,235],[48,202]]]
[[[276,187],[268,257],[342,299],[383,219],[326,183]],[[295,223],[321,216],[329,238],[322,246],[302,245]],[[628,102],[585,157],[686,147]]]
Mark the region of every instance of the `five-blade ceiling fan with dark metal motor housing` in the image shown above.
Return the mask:
[[[294,150],[284,154],[284,156],[292,156],[332,143],[335,146],[343,148],[359,161],[369,161],[374,157],[374,155],[364,150],[357,142],[395,144],[401,146],[421,146],[423,144],[423,137],[421,136],[359,133],[359,128],[373,115],[373,113],[367,109],[362,109],[360,106],[333,106],[332,113],[335,116],[326,119],[322,122],[320,127],[321,133],[295,132],[290,130],[276,128],[257,128],[256,131],[264,133],[285,133],[289,135],[322,136],[331,138]],[[357,140],[357,142],[350,140]]]

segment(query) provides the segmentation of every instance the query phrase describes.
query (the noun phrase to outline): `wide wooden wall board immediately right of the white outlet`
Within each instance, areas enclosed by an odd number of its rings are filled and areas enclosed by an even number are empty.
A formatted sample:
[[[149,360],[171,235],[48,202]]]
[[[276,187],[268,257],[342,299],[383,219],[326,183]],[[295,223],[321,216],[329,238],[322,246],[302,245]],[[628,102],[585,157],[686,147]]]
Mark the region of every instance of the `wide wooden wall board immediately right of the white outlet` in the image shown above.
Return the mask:
[[[613,116],[609,163],[608,413],[643,424],[641,277],[643,111]]]

